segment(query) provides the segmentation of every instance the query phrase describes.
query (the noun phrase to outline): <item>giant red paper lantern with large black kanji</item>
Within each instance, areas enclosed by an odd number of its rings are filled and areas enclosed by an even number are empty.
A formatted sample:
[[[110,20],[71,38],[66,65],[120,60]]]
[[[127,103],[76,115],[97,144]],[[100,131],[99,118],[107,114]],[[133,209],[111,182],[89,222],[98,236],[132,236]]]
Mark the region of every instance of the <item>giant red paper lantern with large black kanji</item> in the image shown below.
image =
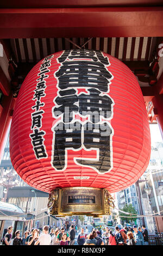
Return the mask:
[[[27,75],[12,118],[10,156],[30,186],[120,191],[145,172],[150,154],[143,95],[120,60],[100,51],[61,51]]]

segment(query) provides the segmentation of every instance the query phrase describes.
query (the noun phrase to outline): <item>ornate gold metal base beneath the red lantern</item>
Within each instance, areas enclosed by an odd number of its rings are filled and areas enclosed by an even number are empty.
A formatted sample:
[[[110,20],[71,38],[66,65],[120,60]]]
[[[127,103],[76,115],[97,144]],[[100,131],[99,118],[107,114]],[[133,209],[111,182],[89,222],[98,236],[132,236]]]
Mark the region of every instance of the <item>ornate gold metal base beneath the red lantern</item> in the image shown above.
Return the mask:
[[[58,217],[110,215],[110,208],[114,208],[112,200],[105,188],[56,188],[49,194],[48,213]]]

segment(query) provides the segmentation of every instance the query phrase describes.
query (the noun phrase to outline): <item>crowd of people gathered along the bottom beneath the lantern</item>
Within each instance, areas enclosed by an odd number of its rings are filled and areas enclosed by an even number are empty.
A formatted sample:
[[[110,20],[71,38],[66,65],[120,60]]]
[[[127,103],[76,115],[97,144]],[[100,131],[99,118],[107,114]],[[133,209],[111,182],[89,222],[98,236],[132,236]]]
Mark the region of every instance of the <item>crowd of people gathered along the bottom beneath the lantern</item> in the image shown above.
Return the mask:
[[[21,237],[20,230],[15,232],[14,239],[11,239],[13,227],[8,227],[8,232],[5,234],[2,245],[74,245],[76,237],[76,229],[71,225],[68,231],[65,227],[52,228],[49,232],[49,227],[45,225],[43,229],[32,228],[30,231],[25,231]],[[119,229],[115,227],[115,232],[105,228],[105,232],[92,228],[91,233],[87,227],[82,228],[77,238],[78,245],[148,245],[148,231],[145,225],[136,228],[124,227]]]

